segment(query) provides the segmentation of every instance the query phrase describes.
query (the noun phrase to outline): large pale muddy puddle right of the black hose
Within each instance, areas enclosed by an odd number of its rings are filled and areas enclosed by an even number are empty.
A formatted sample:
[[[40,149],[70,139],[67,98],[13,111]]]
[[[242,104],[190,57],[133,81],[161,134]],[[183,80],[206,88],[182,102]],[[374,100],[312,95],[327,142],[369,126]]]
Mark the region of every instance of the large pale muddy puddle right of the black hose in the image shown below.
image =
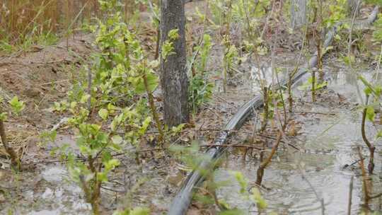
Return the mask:
[[[363,76],[371,80],[372,74],[365,72]],[[359,165],[344,168],[359,159],[357,146],[363,147],[365,156],[369,154],[361,138],[361,114],[356,108],[357,103],[364,100],[362,83],[357,81],[357,76],[349,74],[345,69],[332,69],[328,76],[328,89],[324,90],[321,95],[323,98],[318,103],[309,103],[306,100],[310,94],[295,90],[295,96],[305,100],[302,105],[296,106],[305,113],[294,114],[294,119],[301,122],[301,130],[296,138],[291,139],[291,143],[298,144],[303,150],[296,151],[282,146],[284,150],[278,151],[272,164],[265,170],[262,185],[267,189],[261,190],[268,204],[267,212],[322,214],[319,199],[323,198],[325,214],[347,214],[349,182],[353,175],[352,214],[359,214],[364,208]],[[376,127],[381,129],[381,125]],[[375,136],[376,127],[367,125],[369,138]],[[381,142],[375,144],[378,151]],[[251,158],[243,163],[240,162],[241,156],[229,157],[226,167],[216,171],[217,181],[228,178],[231,183],[228,187],[220,188],[219,197],[226,199],[233,207],[245,209],[248,214],[258,214],[255,205],[239,194],[240,186],[230,171],[241,171],[249,184],[255,185],[259,161]],[[374,194],[382,191],[381,166],[381,153],[376,153],[376,169],[371,176]],[[382,211],[379,201],[374,199],[369,207],[373,211]]]

